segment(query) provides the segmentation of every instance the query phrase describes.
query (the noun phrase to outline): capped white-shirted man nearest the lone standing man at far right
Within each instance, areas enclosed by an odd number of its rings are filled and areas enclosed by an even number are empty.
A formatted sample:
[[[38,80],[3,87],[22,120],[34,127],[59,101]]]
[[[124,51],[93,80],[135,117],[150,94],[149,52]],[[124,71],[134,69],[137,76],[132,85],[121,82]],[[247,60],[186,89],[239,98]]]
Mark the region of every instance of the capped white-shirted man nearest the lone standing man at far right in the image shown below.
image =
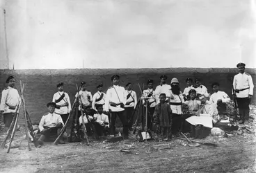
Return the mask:
[[[218,82],[214,82],[211,84],[212,90],[214,91],[211,94],[210,102],[214,103],[214,105],[218,109],[218,113],[225,114],[227,113],[227,102],[230,102],[230,97],[224,91],[218,91],[220,84]]]

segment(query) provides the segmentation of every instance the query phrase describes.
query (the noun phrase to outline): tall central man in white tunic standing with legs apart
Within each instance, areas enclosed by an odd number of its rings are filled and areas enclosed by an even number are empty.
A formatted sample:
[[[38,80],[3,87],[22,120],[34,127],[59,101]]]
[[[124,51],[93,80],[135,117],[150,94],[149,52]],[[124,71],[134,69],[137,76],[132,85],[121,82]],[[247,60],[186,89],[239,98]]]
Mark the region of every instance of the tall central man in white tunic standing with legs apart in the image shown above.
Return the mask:
[[[118,116],[122,122],[123,138],[128,139],[128,119],[124,114],[126,95],[125,88],[119,86],[119,75],[111,77],[113,86],[106,91],[105,110],[111,112],[111,137],[115,136],[115,119]]]

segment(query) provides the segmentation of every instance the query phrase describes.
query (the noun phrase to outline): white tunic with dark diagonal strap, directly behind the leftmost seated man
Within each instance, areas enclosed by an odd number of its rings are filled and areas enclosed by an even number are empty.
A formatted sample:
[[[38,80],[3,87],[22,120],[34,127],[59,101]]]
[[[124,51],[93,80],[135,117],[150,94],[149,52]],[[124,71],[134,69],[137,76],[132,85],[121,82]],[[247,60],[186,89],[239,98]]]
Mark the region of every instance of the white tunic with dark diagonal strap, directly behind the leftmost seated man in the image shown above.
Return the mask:
[[[56,104],[59,106],[67,105],[67,107],[60,107],[60,109],[55,109],[55,113],[58,113],[58,114],[67,114],[67,113],[70,113],[71,111],[70,97],[67,93],[63,91],[58,91],[57,93],[54,93],[52,102],[56,102],[56,100],[58,100],[58,98],[60,98],[61,95],[63,95],[63,93],[65,94],[64,98],[60,102],[57,102]]]

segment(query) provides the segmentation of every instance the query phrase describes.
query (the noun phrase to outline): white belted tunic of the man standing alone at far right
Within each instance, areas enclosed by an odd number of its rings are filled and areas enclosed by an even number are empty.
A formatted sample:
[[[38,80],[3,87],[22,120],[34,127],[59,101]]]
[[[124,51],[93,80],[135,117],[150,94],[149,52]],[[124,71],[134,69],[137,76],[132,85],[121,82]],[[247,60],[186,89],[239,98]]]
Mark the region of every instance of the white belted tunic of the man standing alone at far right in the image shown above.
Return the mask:
[[[235,75],[233,80],[233,86],[234,89],[246,89],[249,87],[249,89],[236,93],[237,98],[248,98],[249,94],[253,95],[253,79],[252,76],[248,73],[239,73]]]

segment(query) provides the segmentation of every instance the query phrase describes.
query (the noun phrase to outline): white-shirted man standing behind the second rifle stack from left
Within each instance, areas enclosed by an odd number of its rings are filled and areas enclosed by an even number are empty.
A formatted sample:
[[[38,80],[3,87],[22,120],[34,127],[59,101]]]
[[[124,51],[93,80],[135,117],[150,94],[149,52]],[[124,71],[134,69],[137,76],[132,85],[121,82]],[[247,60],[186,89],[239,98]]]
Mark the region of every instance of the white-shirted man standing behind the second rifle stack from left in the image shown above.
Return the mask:
[[[90,91],[86,90],[86,82],[81,82],[81,91],[79,91],[79,95],[81,96],[81,100],[79,99],[79,102],[82,105],[82,108],[90,106],[91,103],[93,102],[93,95],[92,93],[90,93]],[[76,98],[77,98],[78,94],[76,94]],[[79,110],[81,109],[81,107],[79,106]]]

